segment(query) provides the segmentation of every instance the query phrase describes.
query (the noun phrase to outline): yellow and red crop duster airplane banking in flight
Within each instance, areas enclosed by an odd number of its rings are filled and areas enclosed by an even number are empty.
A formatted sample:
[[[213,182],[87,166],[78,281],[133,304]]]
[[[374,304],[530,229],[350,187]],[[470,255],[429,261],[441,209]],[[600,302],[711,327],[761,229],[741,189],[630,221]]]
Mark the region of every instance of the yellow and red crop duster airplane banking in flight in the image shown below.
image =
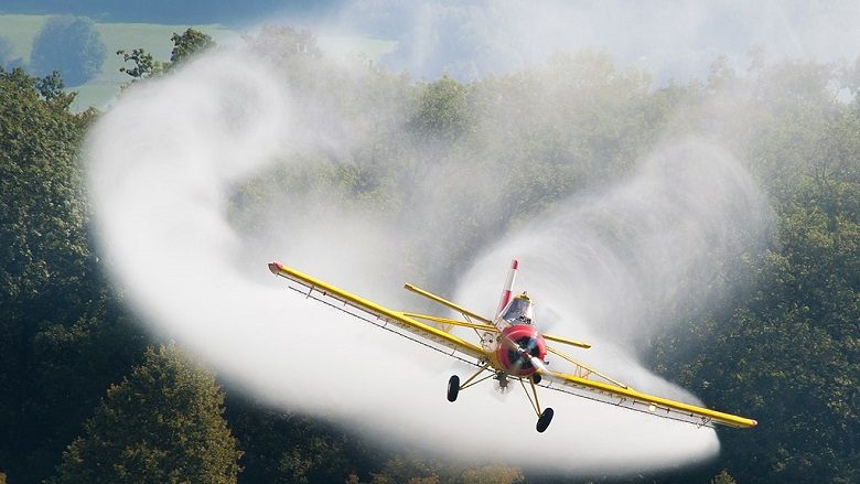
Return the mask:
[[[525,291],[514,295],[514,282],[518,269],[519,261],[514,259],[502,291],[498,309],[492,320],[412,284],[404,286],[408,291],[447,306],[463,318],[463,320],[452,320],[415,312],[395,311],[282,263],[269,263],[269,270],[275,276],[298,283],[299,287],[289,287],[304,294],[305,298],[325,303],[475,366],[476,372],[462,383],[458,375],[451,376],[448,380],[448,401],[455,401],[461,390],[488,379],[497,381],[502,389],[507,388],[513,381],[518,383],[537,415],[535,428],[538,432],[547,430],[555,415],[552,408],[541,408],[538,400],[538,387],[657,417],[680,420],[699,427],[722,424],[733,428],[750,428],[759,424],[757,421],[745,417],[634,390],[550,346],[547,342],[583,349],[591,347],[590,344],[581,341],[538,331],[535,325],[535,305],[531,298]],[[479,343],[466,341],[453,334],[454,327],[473,330]],[[548,353],[566,361],[573,367],[572,370],[570,373],[550,370],[546,359]]]

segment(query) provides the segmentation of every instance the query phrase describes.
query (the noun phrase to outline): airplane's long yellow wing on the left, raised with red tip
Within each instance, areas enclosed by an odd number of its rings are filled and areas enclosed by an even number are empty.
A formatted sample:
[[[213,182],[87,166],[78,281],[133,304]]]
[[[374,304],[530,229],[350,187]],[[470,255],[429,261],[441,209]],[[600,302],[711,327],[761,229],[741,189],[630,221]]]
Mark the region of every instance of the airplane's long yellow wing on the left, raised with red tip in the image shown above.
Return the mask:
[[[454,336],[453,334],[447,333],[429,324],[417,321],[415,318],[410,316],[411,313],[404,313],[381,306],[375,302],[368,301],[351,292],[344,291],[343,289],[336,288],[327,282],[323,282],[319,279],[308,276],[307,273],[299,272],[298,270],[287,267],[282,263],[271,262],[269,263],[269,270],[276,276],[287,278],[291,281],[304,286],[308,288],[308,295],[313,295],[313,291],[316,291],[322,297],[331,298],[335,301],[358,309],[377,318],[378,320],[384,321],[386,324],[394,324],[402,330],[422,336],[427,340],[465,355],[473,356],[475,358],[486,358],[487,356],[481,346],[464,341]]]

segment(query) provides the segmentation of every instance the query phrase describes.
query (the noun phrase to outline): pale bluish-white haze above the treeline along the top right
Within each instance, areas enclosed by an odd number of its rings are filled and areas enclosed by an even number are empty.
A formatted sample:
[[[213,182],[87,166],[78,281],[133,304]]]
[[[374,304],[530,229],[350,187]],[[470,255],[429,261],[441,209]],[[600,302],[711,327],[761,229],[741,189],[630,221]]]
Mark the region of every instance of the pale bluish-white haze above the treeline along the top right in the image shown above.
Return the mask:
[[[347,2],[325,23],[397,39],[383,61],[427,78],[470,80],[540,65],[553,52],[601,49],[663,85],[707,75],[720,55],[742,72],[756,50],[772,60],[850,62],[858,21],[860,4],[849,0],[375,0]]]

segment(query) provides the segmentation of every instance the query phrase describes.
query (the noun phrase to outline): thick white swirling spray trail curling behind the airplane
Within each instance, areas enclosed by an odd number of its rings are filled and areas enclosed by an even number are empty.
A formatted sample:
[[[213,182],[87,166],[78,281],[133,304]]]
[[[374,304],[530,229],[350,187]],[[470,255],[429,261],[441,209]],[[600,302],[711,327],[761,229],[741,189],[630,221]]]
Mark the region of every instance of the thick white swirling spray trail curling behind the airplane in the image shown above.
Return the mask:
[[[408,183],[412,196],[398,198],[389,215],[342,203],[323,184],[316,193],[282,187],[254,208],[252,224],[237,223],[237,187],[269,176],[272,166],[313,169],[319,153],[340,159],[368,146],[377,149],[376,168],[397,165],[405,150],[397,137],[388,144],[373,139],[370,125],[397,126],[402,106],[383,103],[385,93],[368,87],[379,78],[366,69],[326,68],[325,78],[303,72],[284,82],[254,49],[212,53],[129,89],[94,128],[89,180],[101,247],[155,331],[272,405],[329,416],[447,459],[599,473],[675,465],[718,451],[710,429],[553,392],[541,395],[557,415],[545,434],[534,432],[520,395],[499,400],[477,387],[451,406],[444,383],[470,368],[294,297],[266,262],[280,260],[404,309],[417,303],[400,293],[400,283],[420,273],[422,280],[411,281],[431,290],[423,281],[455,284],[460,301],[488,312],[508,260],[519,257],[519,288],[545,311],[538,324],[589,340],[594,349],[582,359],[638,389],[697,402],[643,368],[631,342],[659,321],[649,304],[675,300],[677,277],[691,268],[717,272],[711,249],[731,251],[737,244],[728,226],[762,219],[763,203],[729,153],[703,141],[667,142],[627,182],[561,198],[509,232],[499,229],[508,207],[494,192],[495,160],[464,168],[465,155],[440,161],[433,150],[418,154],[428,160],[420,173],[396,181]],[[337,94],[329,90],[334,84]],[[374,110],[351,112],[337,101],[354,96],[369,99],[365,107]],[[464,189],[470,196],[458,196]],[[440,263],[462,238],[461,227],[445,224],[448,215],[462,213],[490,236],[466,239],[471,246],[458,257],[477,256],[463,266]]]

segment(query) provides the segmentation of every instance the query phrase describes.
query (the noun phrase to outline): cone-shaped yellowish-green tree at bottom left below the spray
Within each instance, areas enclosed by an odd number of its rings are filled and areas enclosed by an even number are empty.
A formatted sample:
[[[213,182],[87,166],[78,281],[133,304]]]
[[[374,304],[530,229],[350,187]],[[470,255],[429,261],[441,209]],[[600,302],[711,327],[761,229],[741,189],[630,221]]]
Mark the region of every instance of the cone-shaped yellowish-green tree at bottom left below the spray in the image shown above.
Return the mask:
[[[236,482],[241,451],[223,413],[214,373],[175,345],[150,347],[108,389],[52,482]]]

